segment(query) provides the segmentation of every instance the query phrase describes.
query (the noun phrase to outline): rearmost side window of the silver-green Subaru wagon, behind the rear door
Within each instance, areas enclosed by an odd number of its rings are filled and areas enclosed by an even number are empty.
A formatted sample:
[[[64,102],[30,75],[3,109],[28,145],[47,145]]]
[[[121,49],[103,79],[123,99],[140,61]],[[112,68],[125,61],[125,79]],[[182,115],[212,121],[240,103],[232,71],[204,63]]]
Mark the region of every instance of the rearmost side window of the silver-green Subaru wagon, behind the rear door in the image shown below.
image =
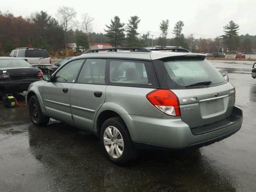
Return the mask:
[[[151,62],[136,60],[109,60],[110,84],[157,86]]]

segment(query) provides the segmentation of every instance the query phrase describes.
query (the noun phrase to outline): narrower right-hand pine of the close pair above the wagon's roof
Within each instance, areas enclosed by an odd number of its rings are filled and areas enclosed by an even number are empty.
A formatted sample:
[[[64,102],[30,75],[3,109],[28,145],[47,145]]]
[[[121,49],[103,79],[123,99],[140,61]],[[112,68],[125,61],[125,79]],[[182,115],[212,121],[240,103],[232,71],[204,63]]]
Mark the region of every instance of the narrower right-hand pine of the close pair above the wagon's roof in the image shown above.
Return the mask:
[[[140,18],[138,16],[131,16],[128,20],[129,23],[127,24],[127,44],[128,46],[138,46],[139,39],[138,39],[138,24],[140,23]]]

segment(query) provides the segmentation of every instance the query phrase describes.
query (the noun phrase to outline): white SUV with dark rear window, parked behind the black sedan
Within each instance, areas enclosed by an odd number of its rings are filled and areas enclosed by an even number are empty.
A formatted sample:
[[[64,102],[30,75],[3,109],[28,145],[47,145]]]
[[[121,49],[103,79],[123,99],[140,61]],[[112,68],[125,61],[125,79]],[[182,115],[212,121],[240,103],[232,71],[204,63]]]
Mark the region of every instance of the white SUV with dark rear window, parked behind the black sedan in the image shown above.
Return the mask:
[[[52,60],[44,48],[16,48],[12,50],[10,57],[21,58],[29,64],[52,64]]]

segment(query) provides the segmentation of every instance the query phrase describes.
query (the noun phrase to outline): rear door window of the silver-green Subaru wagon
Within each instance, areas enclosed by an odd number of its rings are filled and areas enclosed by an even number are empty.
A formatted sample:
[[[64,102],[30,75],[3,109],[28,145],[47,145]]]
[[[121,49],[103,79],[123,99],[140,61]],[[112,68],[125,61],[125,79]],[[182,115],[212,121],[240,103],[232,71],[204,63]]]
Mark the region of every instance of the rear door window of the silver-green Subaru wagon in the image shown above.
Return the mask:
[[[106,59],[87,59],[78,77],[78,83],[105,84]]]

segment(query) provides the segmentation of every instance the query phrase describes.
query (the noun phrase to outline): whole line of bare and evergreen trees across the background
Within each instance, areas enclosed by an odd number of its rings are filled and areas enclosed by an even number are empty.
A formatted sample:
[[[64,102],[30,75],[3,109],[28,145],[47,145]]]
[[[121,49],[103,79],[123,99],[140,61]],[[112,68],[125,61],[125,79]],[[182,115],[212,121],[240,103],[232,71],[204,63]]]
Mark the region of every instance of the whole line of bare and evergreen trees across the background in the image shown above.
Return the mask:
[[[156,38],[150,32],[140,34],[138,26],[140,18],[131,16],[127,23],[121,22],[120,17],[114,16],[110,24],[106,24],[105,33],[93,32],[92,18],[87,13],[82,14],[82,22],[76,20],[76,11],[71,7],[59,7],[56,17],[40,11],[30,17],[15,17],[11,13],[0,12],[0,55],[8,55],[17,47],[44,47],[51,55],[63,55],[67,52],[68,43],[76,43],[82,50],[90,48],[89,42],[110,43],[112,46],[176,46],[193,52],[256,52],[256,36],[239,35],[239,25],[234,21],[223,27],[224,34],[216,38],[195,39],[182,33],[184,22],[174,25],[171,35],[167,38],[170,26],[169,20],[159,24],[160,35]],[[192,47],[191,47],[192,44]]]

